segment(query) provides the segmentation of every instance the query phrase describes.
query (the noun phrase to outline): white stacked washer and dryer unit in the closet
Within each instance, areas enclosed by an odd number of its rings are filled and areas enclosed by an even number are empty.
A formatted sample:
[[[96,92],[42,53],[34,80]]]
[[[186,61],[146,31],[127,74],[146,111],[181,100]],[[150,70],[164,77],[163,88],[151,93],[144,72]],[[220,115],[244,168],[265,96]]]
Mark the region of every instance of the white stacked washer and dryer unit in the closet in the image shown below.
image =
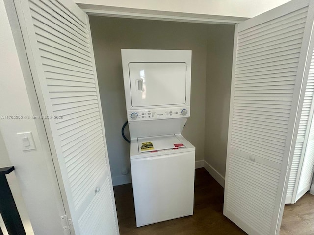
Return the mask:
[[[193,214],[191,51],[122,49],[137,227]]]

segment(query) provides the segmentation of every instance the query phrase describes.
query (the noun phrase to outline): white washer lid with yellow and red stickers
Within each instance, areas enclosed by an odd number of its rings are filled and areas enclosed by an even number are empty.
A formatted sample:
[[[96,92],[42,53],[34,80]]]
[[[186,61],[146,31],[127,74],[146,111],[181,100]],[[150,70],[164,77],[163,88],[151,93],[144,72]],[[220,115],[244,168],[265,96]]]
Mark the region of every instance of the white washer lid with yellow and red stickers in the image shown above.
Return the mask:
[[[175,135],[137,138],[137,144],[139,153],[185,147]]]

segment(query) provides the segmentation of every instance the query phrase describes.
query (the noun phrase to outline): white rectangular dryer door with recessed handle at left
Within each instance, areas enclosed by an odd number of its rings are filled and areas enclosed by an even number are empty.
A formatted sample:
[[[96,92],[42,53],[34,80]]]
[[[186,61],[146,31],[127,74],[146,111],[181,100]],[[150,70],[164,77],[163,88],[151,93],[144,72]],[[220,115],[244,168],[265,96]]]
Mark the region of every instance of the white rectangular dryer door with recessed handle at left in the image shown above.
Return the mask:
[[[129,63],[132,107],[185,104],[186,63]]]

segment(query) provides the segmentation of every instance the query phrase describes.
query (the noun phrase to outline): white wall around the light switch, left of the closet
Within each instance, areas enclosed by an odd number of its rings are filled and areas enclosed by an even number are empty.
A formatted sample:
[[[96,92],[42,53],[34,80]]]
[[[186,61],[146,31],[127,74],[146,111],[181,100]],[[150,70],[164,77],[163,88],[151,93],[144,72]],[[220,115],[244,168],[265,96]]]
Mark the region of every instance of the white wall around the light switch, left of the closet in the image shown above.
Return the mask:
[[[13,2],[7,0],[6,3],[12,20],[14,18]],[[65,212],[42,120],[24,118],[24,116],[38,115],[39,109],[35,107],[37,101],[34,92],[30,92],[31,77],[29,74],[22,73],[14,43],[13,33],[17,35],[19,28],[16,21],[12,20],[11,24],[14,25],[13,31],[11,31],[2,0],[0,1],[0,117],[12,115],[23,118],[0,118],[2,135],[0,167],[7,165],[15,167],[14,173],[10,173],[7,178],[27,235],[34,233],[36,235],[61,235],[63,228],[60,216]],[[18,47],[23,48],[22,41],[18,41]],[[27,64],[23,64],[25,65],[27,68]],[[24,76],[28,78],[27,82]],[[27,152],[21,150],[21,140],[16,133],[26,131],[32,132],[36,150]]]

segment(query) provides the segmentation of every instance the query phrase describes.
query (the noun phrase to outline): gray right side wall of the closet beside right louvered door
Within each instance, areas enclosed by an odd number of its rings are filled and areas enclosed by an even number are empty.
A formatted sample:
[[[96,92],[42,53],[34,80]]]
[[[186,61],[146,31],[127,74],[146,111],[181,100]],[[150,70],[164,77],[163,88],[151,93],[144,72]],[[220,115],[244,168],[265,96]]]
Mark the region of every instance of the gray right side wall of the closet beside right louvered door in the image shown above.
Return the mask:
[[[212,30],[207,50],[204,164],[225,177],[234,26],[212,25]]]

